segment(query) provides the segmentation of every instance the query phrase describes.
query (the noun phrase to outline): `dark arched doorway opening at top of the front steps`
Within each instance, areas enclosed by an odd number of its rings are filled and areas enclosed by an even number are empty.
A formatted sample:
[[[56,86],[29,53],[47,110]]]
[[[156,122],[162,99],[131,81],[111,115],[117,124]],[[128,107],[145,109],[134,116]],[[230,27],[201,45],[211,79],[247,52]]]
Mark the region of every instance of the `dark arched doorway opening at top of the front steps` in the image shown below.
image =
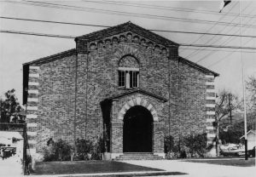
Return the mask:
[[[133,106],[124,117],[124,152],[152,152],[153,117],[143,106]]]

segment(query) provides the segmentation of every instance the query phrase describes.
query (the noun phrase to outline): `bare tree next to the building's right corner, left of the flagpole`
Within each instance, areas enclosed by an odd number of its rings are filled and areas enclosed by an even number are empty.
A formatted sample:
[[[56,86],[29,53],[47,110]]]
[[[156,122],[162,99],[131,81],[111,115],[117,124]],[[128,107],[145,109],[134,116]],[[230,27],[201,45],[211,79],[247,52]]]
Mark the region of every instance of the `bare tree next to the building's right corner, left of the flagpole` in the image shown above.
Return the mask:
[[[215,114],[215,126],[216,126],[216,152],[219,155],[219,124],[224,117],[228,117],[230,112],[237,110],[241,106],[241,100],[235,94],[229,91],[222,90],[218,94],[218,99],[216,101],[216,114]],[[230,117],[231,118],[231,117]]]

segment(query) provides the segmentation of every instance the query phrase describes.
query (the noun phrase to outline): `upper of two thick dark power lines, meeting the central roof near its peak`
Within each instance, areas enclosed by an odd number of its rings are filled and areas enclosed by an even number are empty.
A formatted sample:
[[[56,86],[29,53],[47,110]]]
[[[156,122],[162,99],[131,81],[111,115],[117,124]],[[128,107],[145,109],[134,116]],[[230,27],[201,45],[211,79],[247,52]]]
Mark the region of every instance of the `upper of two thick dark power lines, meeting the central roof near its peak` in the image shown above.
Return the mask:
[[[102,26],[102,25],[93,25],[93,24],[84,24],[84,23],[73,23],[73,22],[64,22],[64,21],[53,21],[53,20],[34,20],[34,19],[23,19],[23,18],[15,18],[15,17],[6,17],[0,16],[0,19],[6,20],[24,20],[24,21],[33,21],[33,22],[43,22],[43,23],[55,23],[55,24],[62,24],[62,25],[73,25],[73,26],[92,26],[92,27],[112,27],[112,26]],[[196,34],[196,35],[217,35],[217,36],[226,36],[226,37],[240,37],[240,35],[236,34],[223,34],[223,33],[210,33],[210,32],[194,32],[194,31],[171,31],[171,30],[155,30],[155,29],[148,29],[148,31],[158,31],[158,32],[171,32],[171,33],[183,33],[183,34]],[[253,37],[250,35],[243,35],[241,37]]]

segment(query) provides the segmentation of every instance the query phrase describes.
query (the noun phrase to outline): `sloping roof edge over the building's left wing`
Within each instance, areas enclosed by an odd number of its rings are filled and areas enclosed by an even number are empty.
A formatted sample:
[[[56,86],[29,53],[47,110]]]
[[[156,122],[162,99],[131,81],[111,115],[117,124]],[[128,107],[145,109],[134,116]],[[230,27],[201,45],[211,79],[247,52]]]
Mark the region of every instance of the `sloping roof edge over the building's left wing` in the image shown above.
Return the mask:
[[[48,62],[50,62],[52,60],[58,60],[58,59],[60,59],[63,56],[69,56],[69,55],[72,55],[72,54],[76,54],[76,51],[77,51],[76,49],[69,49],[69,50],[66,50],[66,51],[58,53],[58,54],[52,54],[52,55],[40,58],[38,60],[32,60],[32,61],[23,63],[22,65],[23,66],[26,66],[26,65],[36,65],[36,64],[41,65],[43,63],[48,63]]]

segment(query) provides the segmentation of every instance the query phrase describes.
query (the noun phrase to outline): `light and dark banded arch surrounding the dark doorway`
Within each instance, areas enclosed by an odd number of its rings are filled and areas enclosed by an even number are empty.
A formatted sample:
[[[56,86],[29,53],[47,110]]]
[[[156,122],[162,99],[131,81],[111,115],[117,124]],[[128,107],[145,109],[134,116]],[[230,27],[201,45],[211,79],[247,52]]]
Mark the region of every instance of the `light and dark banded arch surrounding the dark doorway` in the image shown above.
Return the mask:
[[[154,122],[158,122],[159,121],[159,118],[157,116],[157,112],[155,111],[154,109],[154,106],[152,106],[148,100],[144,100],[143,98],[141,97],[137,97],[137,98],[134,98],[132,100],[129,100],[125,103],[125,105],[122,107],[122,109],[119,111],[119,117],[118,119],[120,121],[123,121],[124,120],[124,117],[125,117],[125,113],[126,111],[128,111],[132,106],[143,106],[145,108],[148,109],[148,111],[150,111],[150,113],[152,114],[152,117],[153,117],[153,120]]]

